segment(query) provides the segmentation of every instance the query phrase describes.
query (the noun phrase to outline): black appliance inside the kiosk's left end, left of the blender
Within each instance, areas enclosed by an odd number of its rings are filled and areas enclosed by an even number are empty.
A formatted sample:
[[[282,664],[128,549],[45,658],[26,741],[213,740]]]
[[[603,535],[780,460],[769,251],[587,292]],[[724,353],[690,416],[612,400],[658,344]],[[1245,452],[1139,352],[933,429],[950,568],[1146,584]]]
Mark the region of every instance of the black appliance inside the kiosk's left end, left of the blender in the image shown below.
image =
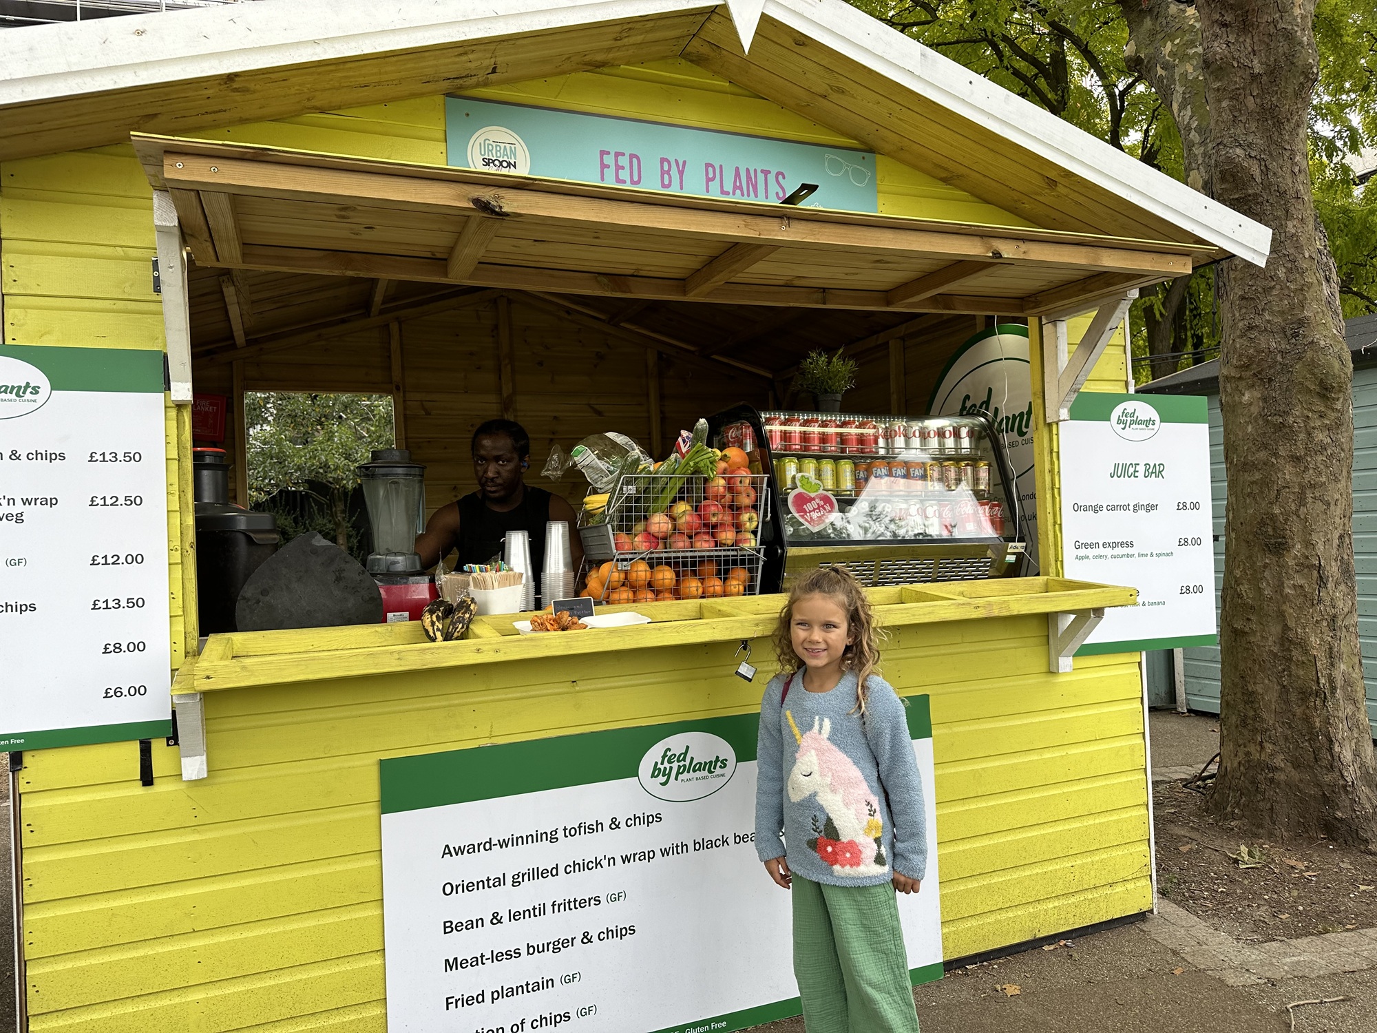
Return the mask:
[[[230,501],[224,449],[193,449],[196,585],[202,635],[237,631],[234,603],[249,574],[282,543],[277,519]]]

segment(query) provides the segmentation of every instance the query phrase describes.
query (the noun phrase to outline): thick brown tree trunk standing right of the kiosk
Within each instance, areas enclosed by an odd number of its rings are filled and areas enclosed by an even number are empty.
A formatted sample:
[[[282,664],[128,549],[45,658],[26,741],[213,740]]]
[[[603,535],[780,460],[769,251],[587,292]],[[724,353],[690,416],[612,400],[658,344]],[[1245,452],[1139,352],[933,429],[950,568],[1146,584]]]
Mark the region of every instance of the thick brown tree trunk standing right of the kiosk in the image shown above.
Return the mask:
[[[1223,762],[1210,807],[1377,847],[1352,548],[1352,365],[1315,233],[1314,0],[1198,0],[1215,197],[1271,226],[1217,269],[1228,507]]]

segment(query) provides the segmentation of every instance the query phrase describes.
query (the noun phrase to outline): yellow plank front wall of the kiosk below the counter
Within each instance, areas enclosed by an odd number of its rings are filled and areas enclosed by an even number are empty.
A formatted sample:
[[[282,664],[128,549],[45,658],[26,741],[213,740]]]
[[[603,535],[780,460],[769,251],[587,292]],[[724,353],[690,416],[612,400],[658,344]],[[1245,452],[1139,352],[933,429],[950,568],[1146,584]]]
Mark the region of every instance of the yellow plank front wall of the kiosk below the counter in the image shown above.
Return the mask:
[[[768,668],[745,685],[735,647],[209,693],[197,782],[160,742],[147,789],[132,744],[26,755],[32,1029],[380,1033],[379,758],[749,712]],[[949,957],[1151,906],[1126,660],[1049,675],[1041,616],[895,629],[885,675],[932,697]]]

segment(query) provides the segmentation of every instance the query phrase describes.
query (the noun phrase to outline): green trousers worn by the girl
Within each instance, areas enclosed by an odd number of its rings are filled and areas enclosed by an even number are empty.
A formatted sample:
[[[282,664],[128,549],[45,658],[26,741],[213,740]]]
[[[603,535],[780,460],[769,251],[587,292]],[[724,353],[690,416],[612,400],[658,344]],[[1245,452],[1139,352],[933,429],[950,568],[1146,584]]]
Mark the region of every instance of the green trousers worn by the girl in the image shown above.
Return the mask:
[[[793,877],[793,974],[808,1033],[918,1033],[894,886]]]

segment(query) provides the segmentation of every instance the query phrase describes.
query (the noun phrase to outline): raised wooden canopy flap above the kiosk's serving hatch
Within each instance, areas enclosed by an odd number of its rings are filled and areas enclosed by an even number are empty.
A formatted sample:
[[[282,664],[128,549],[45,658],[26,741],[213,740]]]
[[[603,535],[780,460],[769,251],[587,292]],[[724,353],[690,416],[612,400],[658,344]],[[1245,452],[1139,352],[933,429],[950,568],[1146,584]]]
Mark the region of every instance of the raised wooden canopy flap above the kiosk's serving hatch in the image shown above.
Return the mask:
[[[135,136],[201,266],[629,300],[1052,315],[1210,249]]]

